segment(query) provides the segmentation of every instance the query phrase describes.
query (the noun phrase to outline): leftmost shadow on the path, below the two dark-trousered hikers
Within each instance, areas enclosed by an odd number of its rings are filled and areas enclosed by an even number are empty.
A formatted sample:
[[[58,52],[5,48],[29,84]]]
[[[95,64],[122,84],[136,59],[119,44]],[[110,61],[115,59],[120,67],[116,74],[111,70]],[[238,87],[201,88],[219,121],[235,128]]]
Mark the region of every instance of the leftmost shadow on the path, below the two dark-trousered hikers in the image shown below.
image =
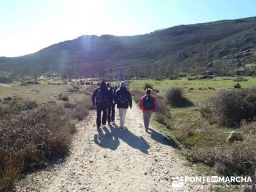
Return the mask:
[[[109,132],[107,127],[102,127],[97,129],[98,134],[94,135],[94,143],[102,148],[109,148],[111,150],[116,150],[120,142],[116,136]],[[104,132],[105,134],[104,134]]]

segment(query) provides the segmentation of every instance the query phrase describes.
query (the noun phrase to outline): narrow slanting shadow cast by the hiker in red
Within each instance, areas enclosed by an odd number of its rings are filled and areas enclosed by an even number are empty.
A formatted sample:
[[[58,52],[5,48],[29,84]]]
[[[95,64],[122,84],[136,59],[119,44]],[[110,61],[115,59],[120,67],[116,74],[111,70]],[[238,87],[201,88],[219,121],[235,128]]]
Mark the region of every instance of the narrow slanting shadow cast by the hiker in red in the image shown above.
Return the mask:
[[[172,138],[167,138],[163,134],[154,131],[154,129],[148,129],[148,134],[150,134],[150,137],[152,140],[157,141],[158,143],[161,143],[163,145],[169,145],[173,148],[179,148],[179,145],[172,139]]]

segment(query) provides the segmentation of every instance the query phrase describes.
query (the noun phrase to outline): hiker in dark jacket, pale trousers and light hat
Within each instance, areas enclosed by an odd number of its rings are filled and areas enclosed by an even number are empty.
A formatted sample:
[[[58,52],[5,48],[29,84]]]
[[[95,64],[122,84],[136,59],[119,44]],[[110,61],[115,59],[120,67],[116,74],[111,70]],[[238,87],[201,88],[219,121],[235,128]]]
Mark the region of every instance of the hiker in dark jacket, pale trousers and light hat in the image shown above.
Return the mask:
[[[120,129],[123,129],[125,124],[126,111],[129,106],[130,108],[132,108],[131,93],[127,90],[124,81],[120,83],[120,88],[116,91],[115,104],[117,104],[117,108],[119,111]]]

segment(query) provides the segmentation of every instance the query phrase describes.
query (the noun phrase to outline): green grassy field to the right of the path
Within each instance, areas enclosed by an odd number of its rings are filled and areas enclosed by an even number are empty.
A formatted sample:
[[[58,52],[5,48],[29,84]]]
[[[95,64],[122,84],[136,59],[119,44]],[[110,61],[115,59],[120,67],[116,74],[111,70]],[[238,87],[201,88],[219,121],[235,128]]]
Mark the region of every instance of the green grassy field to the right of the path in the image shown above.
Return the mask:
[[[131,80],[129,81],[129,88],[131,90],[143,90],[145,83],[149,83],[153,86],[154,89],[159,90],[159,93],[154,94],[161,95],[163,97],[168,88],[182,88],[184,90],[184,96],[191,100],[194,103],[194,106],[186,108],[173,108],[172,106],[166,104],[171,114],[170,125],[167,126],[170,128],[167,129],[166,126],[156,122],[156,116],[154,119],[155,121],[153,121],[152,125],[154,127],[157,127],[157,129],[159,129],[162,133],[166,134],[166,136],[174,138],[174,140],[182,143],[182,146],[184,146],[182,154],[188,157],[188,159],[190,159],[191,163],[193,164],[200,162],[196,160],[195,154],[196,156],[202,157],[202,159],[207,159],[207,157],[210,156],[211,153],[216,152],[216,148],[227,147],[228,153],[230,153],[230,163],[234,164],[235,166],[236,161],[234,161],[234,159],[231,159],[231,154],[232,152],[236,153],[237,147],[239,147],[240,144],[238,143],[237,145],[233,145],[227,143],[226,140],[231,131],[241,131],[242,128],[240,126],[226,127],[217,122],[210,122],[209,120],[203,118],[200,114],[200,108],[205,103],[207,103],[207,101],[211,97],[214,97],[215,95],[217,95],[218,92],[223,89],[234,88],[234,84],[237,83],[234,81],[234,79],[236,78],[215,77],[214,79],[209,80],[202,79],[193,81],[188,81],[188,79],[186,78],[180,78],[175,80],[166,79],[162,81],[156,81],[152,79]],[[246,77],[245,79],[247,79],[248,81],[239,82],[242,88],[252,88],[256,86],[255,77]],[[220,151],[219,154],[217,152],[217,155],[223,155],[221,154],[222,152]],[[246,153],[248,153],[248,150]],[[247,156],[247,154],[245,156]],[[232,161],[234,162],[232,163]],[[201,161],[201,163],[209,164],[206,161]],[[215,164],[212,170],[202,168],[202,166],[200,166],[200,168],[198,169],[201,173],[204,173],[205,175],[211,174],[212,171],[219,173],[220,175],[234,174],[234,172],[228,170],[228,168],[223,168],[224,166],[221,168],[217,166],[219,165]],[[223,189],[223,191],[228,190]]]

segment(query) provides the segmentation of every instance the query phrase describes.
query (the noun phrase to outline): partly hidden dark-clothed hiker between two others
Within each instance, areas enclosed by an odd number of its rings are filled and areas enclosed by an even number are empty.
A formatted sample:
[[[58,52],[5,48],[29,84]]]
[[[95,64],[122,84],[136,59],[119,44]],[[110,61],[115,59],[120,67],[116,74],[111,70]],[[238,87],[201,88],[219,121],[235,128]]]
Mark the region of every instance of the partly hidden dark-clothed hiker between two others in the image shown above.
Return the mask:
[[[115,122],[115,83],[111,83],[108,89],[108,124]]]

